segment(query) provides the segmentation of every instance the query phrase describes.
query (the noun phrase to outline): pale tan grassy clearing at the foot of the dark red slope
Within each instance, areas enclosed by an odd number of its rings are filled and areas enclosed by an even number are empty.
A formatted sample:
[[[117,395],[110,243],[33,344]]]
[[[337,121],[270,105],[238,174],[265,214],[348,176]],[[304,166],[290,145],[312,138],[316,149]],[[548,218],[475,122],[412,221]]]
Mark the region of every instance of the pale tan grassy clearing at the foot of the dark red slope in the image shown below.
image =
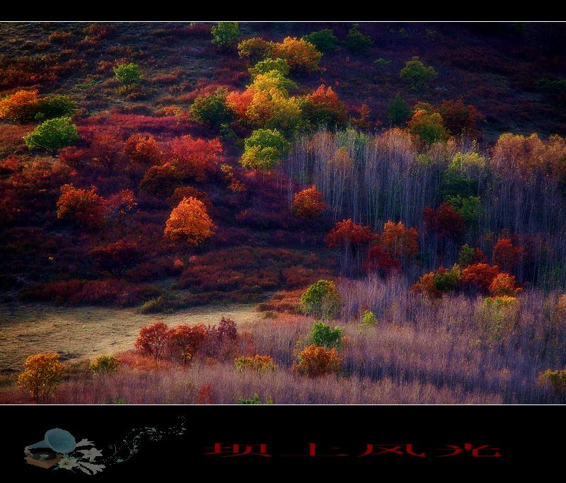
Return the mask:
[[[163,320],[217,324],[229,317],[238,325],[262,320],[255,304],[207,305],[172,314],[140,314],[134,308],[62,307],[24,303],[0,304],[0,371],[22,369],[28,356],[59,352],[69,359],[93,359],[132,349],[139,329]]]

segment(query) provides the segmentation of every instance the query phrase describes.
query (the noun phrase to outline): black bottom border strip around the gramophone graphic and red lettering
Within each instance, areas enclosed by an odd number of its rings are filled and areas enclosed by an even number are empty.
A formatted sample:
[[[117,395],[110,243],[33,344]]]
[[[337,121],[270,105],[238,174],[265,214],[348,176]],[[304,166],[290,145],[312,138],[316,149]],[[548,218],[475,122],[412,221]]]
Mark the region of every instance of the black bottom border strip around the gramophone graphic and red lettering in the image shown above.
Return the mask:
[[[183,474],[187,479],[201,475],[199,479],[214,481],[219,472],[257,480],[258,475],[260,479],[307,474],[336,477],[338,472],[362,471],[381,479],[383,474],[374,471],[385,469],[398,477],[424,475],[429,470],[434,475],[458,471],[467,477],[486,477],[527,468],[550,470],[562,460],[560,406],[5,406],[2,412],[4,470],[42,479],[86,477],[80,471],[45,470],[24,462],[24,446],[41,441],[47,429],[67,429],[76,441],[87,438],[107,456],[105,447],[122,441],[131,429],[166,428],[177,424],[183,414],[183,436],[142,440],[130,460],[108,465],[96,477]],[[267,443],[272,457],[204,455],[214,443]],[[350,456],[309,458],[308,443],[317,443],[320,453],[332,454],[330,448],[339,447],[338,453]],[[357,458],[367,443],[412,443],[415,451],[426,452],[427,457],[388,453]],[[473,458],[464,451],[438,458],[446,453],[435,451],[464,443],[500,448],[502,457]]]

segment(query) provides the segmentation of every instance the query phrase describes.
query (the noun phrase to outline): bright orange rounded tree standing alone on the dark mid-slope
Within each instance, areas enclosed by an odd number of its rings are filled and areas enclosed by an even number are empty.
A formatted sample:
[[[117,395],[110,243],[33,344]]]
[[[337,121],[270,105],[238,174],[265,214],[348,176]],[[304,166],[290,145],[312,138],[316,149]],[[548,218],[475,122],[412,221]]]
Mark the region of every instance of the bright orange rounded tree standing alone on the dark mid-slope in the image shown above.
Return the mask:
[[[164,234],[171,241],[196,247],[214,234],[214,223],[203,202],[194,197],[183,198],[171,211]]]

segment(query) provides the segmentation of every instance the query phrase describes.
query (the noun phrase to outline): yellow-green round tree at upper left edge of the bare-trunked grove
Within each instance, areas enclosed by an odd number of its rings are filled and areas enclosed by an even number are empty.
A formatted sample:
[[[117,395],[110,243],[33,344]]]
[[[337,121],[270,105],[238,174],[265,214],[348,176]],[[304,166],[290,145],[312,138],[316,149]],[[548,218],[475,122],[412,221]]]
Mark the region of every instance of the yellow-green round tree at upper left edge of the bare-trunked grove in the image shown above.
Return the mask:
[[[289,141],[277,129],[257,129],[244,141],[240,163],[246,168],[270,169],[290,147]]]

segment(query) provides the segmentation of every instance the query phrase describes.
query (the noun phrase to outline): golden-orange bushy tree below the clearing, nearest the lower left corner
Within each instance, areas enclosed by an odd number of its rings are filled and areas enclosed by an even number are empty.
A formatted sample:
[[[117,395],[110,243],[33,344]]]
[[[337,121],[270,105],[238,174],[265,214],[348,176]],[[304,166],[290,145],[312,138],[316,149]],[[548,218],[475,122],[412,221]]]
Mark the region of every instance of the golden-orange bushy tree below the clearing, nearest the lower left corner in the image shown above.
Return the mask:
[[[47,402],[66,373],[59,356],[52,353],[30,356],[23,366],[24,371],[18,376],[18,387],[28,392],[34,402]]]

